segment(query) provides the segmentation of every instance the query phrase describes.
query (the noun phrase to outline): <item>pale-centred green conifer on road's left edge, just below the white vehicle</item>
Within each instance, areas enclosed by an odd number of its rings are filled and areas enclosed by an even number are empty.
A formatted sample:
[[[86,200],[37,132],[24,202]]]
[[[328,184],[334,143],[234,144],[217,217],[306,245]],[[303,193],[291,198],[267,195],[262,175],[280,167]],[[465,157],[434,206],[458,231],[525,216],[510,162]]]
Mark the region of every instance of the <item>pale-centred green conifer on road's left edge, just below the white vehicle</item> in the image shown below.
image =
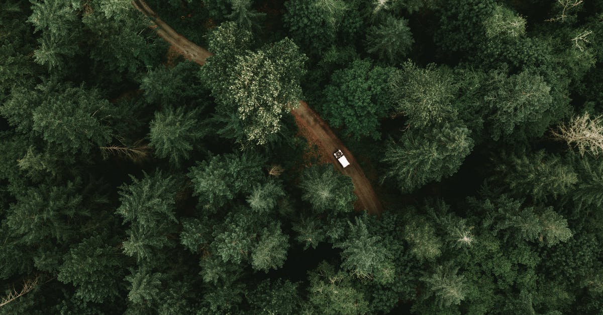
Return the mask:
[[[352,179],[335,173],[332,164],[306,168],[300,183],[301,199],[308,201],[315,212],[350,212],[356,196]]]

